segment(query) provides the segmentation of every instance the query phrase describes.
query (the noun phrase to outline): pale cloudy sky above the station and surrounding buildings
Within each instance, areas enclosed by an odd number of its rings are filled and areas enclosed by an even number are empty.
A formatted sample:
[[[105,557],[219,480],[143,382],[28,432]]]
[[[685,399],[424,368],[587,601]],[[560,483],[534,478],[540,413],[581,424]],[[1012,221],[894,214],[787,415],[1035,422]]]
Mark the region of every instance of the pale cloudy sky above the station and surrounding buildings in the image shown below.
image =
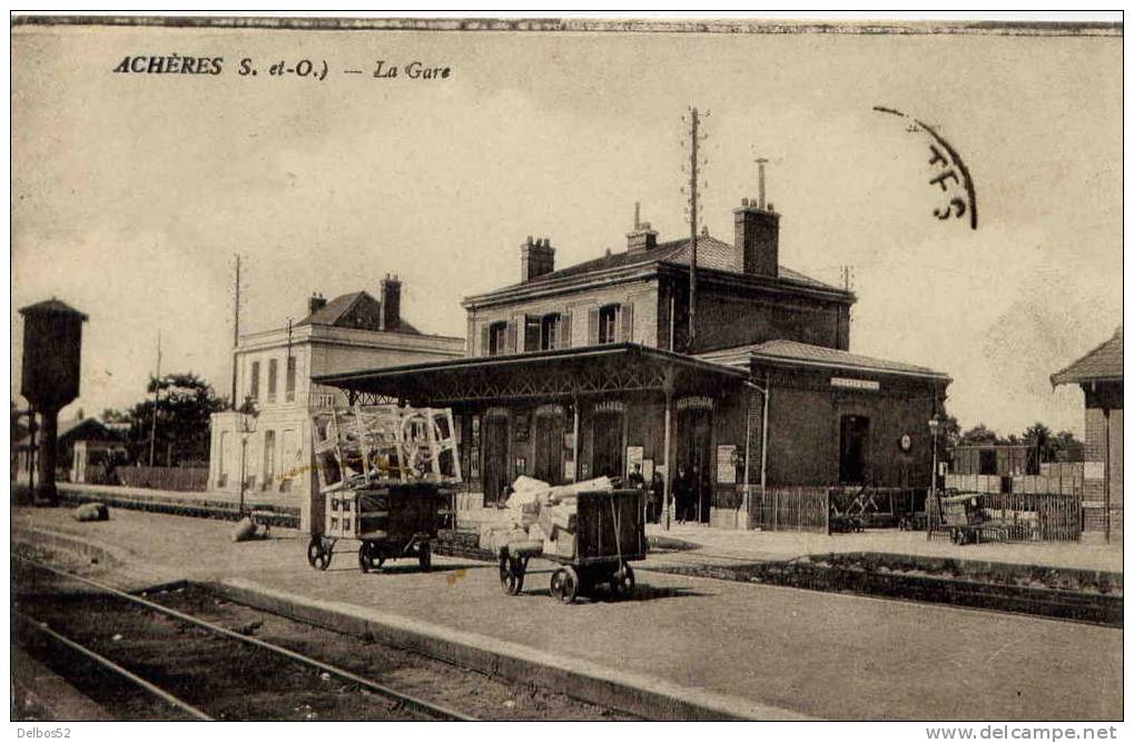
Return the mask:
[[[767,157],[780,263],[830,283],[850,266],[850,350],[951,375],[963,427],[1081,434],[1082,393],[1048,377],[1122,323],[1120,37],[15,27],[11,44],[11,391],[16,309],[58,297],[90,316],[65,418],[141,400],[159,332],[163,372],[226,392],[235,254],[243,331],[397,273],[403,314],[459,336],[460,298],[518,281],[530,234],[560,267],[625,249],[635,202],[660,240],[687,234],[689,105],[709,111],[710,233],[731,239]],[[222,72],[113,71],[172,53]],[[302,59],[327,78],[269,75]],[[374,78],[378,60],[401,75]],[[408,79],[415,60],[450,76]],[[979,229],[932,215],[924,135],[875,105],[953,144]]]

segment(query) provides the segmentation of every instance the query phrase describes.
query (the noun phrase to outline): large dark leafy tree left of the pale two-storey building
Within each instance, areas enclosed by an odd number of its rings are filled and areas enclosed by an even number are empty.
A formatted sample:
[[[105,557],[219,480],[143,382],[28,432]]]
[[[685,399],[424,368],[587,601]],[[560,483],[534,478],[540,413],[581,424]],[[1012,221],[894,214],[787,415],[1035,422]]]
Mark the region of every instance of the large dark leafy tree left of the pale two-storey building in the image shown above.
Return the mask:
[[[212,385],[192,372],[150,378],[146,390],[158,393],[154,464],[200,466],[209,461],[209,419],[228,407]],[[127,412],[130,429],[126,447],[135,462],[149,463],[154,401],[149,396]]]

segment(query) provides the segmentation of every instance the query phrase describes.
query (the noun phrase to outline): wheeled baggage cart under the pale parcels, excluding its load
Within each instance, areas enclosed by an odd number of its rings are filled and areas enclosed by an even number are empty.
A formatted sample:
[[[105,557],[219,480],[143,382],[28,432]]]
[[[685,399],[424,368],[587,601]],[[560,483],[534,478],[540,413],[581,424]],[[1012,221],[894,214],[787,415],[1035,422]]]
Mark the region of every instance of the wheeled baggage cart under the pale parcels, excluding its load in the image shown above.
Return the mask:
[[[577,494],[575,530],[562,530],[558,539],[515,541],[500,548],[500,586],[509,596],[524,588],[527,563],[533,557],[557,563],[551,573],[551,596],[570,604],[608,584],[619,598],[634,593],[631,562],[645,560],[645,492],[620,489]],[[549,547],[551,549],[549,549]]]

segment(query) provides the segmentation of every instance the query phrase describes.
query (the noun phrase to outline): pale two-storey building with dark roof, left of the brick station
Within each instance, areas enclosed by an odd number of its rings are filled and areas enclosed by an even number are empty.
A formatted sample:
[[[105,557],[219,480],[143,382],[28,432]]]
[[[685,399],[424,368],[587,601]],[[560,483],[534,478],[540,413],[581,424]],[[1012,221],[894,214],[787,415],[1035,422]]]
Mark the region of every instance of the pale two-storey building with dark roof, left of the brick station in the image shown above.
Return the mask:
[[[236,401],[251,400],[260,415],[244,461],[247,490],[289,493],[306,503],[311,493],[311,413],[347,404],[333,387],[312,382],[321,374],[456,358],[464,340],[428,335],[401,316],[401,282],[381,282],[381,299],[365,291],[328,301],[308,300],[308,314],[290,327],[240,336],[235,351]],[[209,487],[237,492],[242,416],[212,416]]]

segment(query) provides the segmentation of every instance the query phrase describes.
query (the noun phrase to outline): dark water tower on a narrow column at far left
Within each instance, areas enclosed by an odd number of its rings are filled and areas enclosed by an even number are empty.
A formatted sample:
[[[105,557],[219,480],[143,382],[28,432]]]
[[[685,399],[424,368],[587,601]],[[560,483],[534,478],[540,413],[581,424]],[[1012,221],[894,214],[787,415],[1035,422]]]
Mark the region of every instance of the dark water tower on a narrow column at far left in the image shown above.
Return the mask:
[[[36,501],[58,503],[56,438],[59,411],[78,396],[79,352],[86,315],[56,298],[19,310],[24,316],[20,394],[40,413],[40,482]]]

